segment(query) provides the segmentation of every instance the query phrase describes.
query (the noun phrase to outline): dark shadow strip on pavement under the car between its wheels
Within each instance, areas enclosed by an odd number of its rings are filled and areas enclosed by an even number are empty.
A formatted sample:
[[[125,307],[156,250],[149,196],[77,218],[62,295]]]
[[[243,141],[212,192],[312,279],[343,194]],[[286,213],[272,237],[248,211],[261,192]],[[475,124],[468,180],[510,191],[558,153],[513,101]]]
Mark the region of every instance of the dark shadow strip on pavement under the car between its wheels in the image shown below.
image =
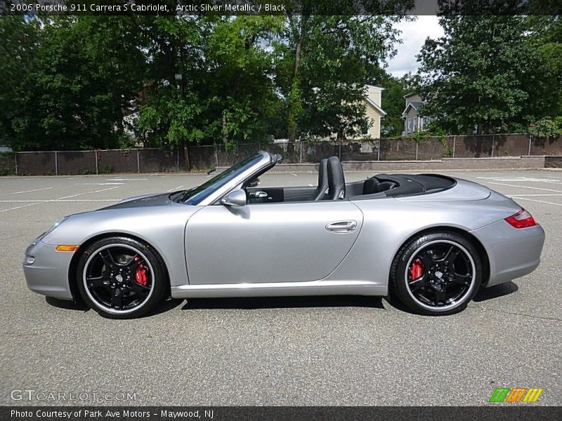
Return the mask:
[[[301,307],[371,307],[384,309],[381,297],[327,295],[310,297],[191,298],[182,310],[285,309]]]

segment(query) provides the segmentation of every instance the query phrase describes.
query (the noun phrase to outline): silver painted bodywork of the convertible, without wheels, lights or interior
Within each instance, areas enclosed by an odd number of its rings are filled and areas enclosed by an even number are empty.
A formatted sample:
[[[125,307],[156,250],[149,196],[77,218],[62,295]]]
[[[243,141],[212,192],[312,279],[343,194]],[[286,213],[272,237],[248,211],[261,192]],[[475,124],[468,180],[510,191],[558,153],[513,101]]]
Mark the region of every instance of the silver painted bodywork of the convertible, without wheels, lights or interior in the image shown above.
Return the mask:
[[[271,162],[262,152],[258,165],[197,206],[160,194],[71,215],[27,249],[36,258],[33,265],[24,262],[27,285],[37,293],[72,299],[73,253],[56,252],[55,246],[84,245],[112,234],[134,236],[157,250],[174,298],[386,295],[391,262],[400,247],[433,228],[461,229],[482,243],[490,260],[487,286],[528,274],[540,262],[542,227],[511,227],[504,218],[521,206],[466,180],[419,196],[214,204]],[[327,231],[327,225],[339,221],[355,221],[357,227],[344,234]]]

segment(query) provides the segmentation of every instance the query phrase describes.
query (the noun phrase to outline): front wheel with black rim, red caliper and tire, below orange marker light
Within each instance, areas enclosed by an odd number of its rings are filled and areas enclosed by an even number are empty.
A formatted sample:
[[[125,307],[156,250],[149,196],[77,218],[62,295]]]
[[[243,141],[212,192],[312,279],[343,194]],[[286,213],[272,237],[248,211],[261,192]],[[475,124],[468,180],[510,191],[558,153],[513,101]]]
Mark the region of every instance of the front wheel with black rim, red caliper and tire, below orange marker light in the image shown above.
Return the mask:
[[[92,243],[79,258],[78,290],[108,319],[134,319],[164,298],[169,284],[162,258],[145,243],[114,236]]]

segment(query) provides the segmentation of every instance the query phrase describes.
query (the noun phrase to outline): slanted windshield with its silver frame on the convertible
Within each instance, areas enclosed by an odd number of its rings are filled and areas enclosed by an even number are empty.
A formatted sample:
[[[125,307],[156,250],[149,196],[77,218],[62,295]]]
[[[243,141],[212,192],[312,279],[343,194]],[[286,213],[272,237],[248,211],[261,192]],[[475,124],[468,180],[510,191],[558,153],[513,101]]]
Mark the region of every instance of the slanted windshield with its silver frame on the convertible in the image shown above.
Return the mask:
[[[195,187],[181,203],[193,206],[213,204],[256,172],[263,171],[268,166],[271,168],[275,166],[276,162],[275,156],[269,152],[260,151],[247,159],[235,163],[202,185]],[[205,187],[206,185],[207,187]]]

